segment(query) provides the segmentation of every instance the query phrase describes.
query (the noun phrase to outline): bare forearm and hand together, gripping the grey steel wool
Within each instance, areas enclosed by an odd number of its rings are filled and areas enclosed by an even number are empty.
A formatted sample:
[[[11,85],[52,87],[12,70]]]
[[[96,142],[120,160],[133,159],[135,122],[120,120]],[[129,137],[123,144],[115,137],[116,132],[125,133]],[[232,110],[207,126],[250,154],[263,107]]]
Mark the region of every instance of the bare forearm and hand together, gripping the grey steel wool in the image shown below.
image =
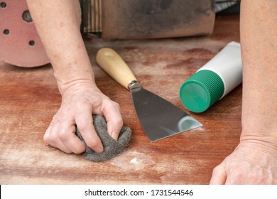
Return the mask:
[[[104,115],[114,139],[123,120],[119,104],[105,96],[94,82],[79,28],[79,1],[28,0],[27,3],[62,95],[60,109],[45,131],[45,141],[66,153],[80,154],[85,151],[85,144],[75,135],[77,125],[87,145],[102,152],[102,142],[92,125],[92,113]]]

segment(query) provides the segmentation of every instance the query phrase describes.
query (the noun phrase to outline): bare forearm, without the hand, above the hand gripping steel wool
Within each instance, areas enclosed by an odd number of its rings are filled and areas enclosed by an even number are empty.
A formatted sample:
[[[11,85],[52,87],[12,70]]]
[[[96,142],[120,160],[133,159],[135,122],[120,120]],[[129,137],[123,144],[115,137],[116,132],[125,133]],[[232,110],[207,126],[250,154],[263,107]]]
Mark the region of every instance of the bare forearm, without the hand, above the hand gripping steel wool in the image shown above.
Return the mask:
[[[93,82],[94,75],[80,33],[77,0],[27,0],[33,21],[63,92],[77,82]]]

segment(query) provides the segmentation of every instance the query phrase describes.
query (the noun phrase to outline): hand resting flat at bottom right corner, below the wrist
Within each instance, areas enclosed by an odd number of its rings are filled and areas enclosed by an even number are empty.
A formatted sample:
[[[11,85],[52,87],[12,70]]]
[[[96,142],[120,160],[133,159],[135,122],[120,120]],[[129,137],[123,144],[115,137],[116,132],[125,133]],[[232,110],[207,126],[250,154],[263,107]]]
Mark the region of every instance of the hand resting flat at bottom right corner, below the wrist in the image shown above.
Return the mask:
[[[277,184],[276,148],[261,143],[240,143],[214,168],[210,184]]]

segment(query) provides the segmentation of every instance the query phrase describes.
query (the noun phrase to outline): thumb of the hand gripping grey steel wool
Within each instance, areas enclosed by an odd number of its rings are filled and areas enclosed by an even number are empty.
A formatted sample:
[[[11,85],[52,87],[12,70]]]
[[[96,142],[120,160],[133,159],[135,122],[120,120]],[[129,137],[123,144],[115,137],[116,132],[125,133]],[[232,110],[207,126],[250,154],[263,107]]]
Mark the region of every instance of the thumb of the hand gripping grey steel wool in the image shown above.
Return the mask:
[[[113,139],[117,140],[123,126],[123,119],[119,110],[119,104],[112,102],[104,107],[104,117],[107,121],[107,131]]]

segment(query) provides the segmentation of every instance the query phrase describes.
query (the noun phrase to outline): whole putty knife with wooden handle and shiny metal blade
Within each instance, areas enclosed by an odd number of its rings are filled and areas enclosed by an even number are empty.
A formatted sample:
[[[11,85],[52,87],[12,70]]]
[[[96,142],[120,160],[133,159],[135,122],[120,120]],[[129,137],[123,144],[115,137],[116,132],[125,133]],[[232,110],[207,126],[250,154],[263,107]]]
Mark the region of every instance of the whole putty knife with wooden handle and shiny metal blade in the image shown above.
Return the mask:
[[[136,114],[150,141],[202,127],[200,122],[182,109],[143,89],[128,65],[111,48],[100,49],[96,60],[116,82],[131,91]]]

